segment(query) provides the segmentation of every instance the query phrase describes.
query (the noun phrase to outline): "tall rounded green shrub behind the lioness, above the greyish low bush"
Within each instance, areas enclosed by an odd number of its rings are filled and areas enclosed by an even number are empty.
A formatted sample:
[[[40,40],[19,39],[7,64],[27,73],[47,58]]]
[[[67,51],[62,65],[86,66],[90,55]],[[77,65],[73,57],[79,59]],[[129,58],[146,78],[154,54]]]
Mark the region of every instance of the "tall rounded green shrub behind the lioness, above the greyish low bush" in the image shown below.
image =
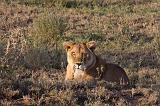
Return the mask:
[[[67,29],[67,19],[53,13],[44,13],[33,22],[31,37],[34,47],[53,48]]]

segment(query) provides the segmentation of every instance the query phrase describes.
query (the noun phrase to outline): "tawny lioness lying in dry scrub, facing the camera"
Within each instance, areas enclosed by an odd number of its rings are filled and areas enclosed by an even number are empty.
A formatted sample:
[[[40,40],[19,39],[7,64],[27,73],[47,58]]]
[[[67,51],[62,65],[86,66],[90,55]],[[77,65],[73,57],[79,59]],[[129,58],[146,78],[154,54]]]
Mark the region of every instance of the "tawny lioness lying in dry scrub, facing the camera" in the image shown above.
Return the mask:
[[[63,46],[67,52],[68,62],[66,81],[90,81],[99,79],[123,85],[129,83],[127,74],[121,67],[106,63],[103,59],[95,55],[95,41],[78,44],[64,42]]]

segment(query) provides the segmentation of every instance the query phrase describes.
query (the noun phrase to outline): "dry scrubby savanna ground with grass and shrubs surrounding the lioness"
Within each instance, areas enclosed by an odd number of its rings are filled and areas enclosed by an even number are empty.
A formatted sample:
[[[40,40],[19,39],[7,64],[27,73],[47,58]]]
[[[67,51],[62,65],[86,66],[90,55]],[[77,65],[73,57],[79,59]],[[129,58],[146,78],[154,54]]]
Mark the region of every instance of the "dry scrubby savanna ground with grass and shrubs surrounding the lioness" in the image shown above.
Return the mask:
[[[1,0],[0,105],[160,105],[159,0]],[[98,43],[123,87],[65,84],[64,41]]]

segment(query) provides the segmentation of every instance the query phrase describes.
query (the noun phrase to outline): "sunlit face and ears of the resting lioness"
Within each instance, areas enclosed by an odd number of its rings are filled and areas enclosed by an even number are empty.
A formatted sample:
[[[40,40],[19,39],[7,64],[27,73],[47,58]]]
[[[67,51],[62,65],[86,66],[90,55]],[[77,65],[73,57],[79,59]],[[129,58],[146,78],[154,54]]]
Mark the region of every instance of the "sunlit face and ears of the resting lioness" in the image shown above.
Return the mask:
[[[95,61],[93,53],[95,47],[96,43],[94,41],[79,44],[65,42],[64,48],[67,51],[68,64],[73,66],[74,70],[85,71]]]

